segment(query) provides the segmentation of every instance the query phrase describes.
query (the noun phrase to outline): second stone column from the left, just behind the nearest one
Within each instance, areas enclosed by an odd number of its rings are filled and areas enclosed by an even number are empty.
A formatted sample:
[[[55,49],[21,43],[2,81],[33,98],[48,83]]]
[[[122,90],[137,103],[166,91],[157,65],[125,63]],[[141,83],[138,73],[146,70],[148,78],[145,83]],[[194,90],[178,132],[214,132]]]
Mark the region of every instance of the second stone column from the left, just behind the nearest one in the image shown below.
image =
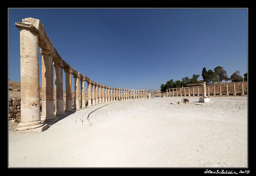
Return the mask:
[[[56,119],[53,103],[52,51],[40,50],[42,54],[42,115],[41,121]]]

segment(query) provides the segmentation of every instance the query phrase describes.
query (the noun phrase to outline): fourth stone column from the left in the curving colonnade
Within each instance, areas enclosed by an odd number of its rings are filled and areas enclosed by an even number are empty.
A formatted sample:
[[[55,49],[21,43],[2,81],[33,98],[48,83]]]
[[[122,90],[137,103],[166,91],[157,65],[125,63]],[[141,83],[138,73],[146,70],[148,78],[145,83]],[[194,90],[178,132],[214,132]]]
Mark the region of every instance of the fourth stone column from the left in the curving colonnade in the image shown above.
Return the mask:
[[[66,73],[66,112],[73,111],[72,107],[72,75],[70,70],[64,70]]]

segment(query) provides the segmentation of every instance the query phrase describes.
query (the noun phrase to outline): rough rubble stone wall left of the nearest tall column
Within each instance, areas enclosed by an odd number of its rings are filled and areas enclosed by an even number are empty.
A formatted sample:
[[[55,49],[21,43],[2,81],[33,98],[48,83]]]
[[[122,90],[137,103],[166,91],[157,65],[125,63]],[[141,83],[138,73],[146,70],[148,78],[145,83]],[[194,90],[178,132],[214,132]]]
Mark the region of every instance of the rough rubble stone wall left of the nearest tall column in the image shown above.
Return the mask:
[[[20,98],[9,98],[9,121],[20,119]]]

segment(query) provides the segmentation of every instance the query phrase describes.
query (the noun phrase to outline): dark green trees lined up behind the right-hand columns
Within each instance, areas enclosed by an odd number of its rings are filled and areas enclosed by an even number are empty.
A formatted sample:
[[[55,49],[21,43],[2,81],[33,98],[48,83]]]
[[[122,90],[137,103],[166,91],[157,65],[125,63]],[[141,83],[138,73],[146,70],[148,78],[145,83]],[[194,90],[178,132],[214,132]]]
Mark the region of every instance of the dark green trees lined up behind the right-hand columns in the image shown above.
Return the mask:
[[[223,67],[218,66],[215,67],[214,70],[206,70],[206,67],[202,70],[202,77],[203,80],[198,81],[198,77],[200,75],[193,75],[192,78],[182,78],[182,81],[176,80],[175,82],[173,79],[166,82],[166,84],[161,84],[161,91],[165,91],[170,88],[180,88],[185,87],[188,84],[199,84],[200,82],[204,81],[207,83],[214,83],[214,82],[222,82],[223,80],[232,82],[239,82],[239,81],[246,81],[247,80],[247,73],[244,74],[244,77],[240,76],[239,71],[235,71],[230,77],[227,76],[227,71],[223,69]]]

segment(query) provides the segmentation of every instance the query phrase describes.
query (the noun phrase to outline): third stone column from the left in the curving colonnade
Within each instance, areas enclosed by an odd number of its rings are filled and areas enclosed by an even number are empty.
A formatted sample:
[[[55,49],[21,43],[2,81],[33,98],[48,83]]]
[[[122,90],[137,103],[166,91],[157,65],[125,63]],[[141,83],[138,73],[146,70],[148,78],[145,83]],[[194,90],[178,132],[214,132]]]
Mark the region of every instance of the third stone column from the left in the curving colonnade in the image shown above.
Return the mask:
[[[65,114],[63,100],[63,78],[61,63],[54,63],[55,67],[55,90],[56,90],[56,115]]]

